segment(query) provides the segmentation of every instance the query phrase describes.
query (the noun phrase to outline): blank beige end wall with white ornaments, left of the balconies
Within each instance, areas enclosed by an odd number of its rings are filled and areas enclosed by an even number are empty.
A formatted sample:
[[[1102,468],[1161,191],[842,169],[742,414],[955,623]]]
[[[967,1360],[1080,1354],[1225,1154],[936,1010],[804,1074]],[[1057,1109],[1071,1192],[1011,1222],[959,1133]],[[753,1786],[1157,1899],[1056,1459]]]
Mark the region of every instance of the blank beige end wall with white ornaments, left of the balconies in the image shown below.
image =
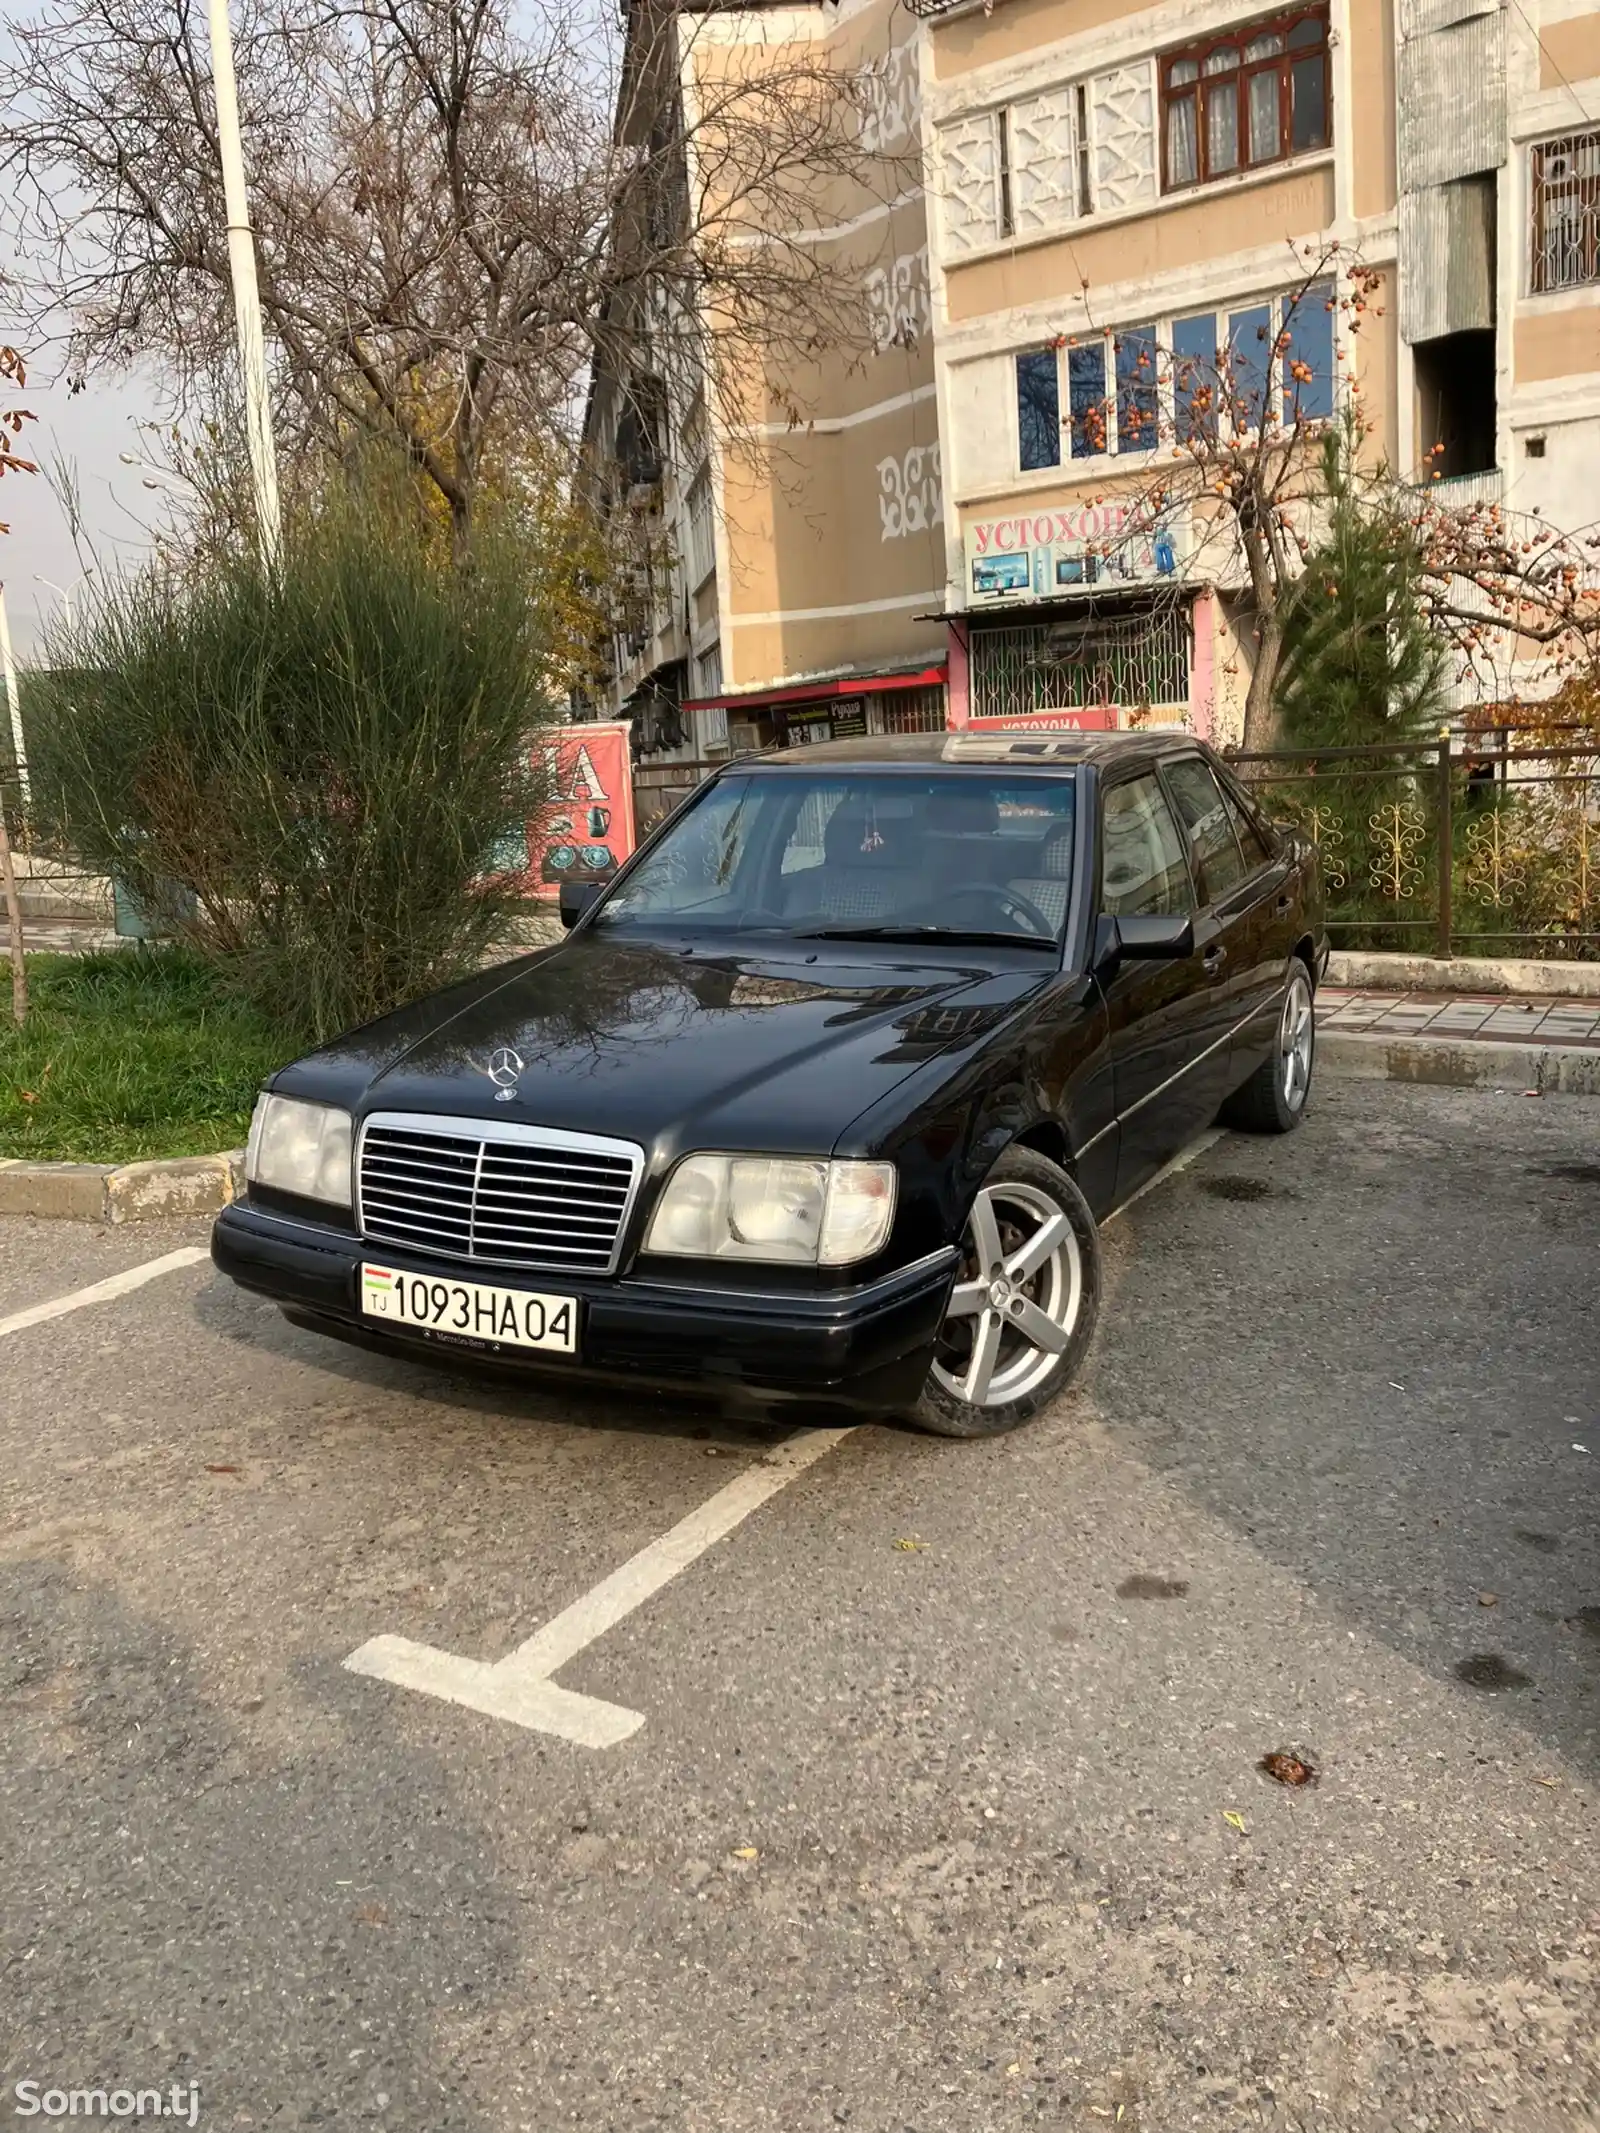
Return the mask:
[[[698,28],[693,94],[753,51],[804,51],[864,90],[866,183],[809,190],[789,237],[849,292],[858,326],[785,350],[740,392],[715,456],[717,595],[727,691],[926,665],[939,606],[941,452],[915,26],[894,0],[730,11]]]

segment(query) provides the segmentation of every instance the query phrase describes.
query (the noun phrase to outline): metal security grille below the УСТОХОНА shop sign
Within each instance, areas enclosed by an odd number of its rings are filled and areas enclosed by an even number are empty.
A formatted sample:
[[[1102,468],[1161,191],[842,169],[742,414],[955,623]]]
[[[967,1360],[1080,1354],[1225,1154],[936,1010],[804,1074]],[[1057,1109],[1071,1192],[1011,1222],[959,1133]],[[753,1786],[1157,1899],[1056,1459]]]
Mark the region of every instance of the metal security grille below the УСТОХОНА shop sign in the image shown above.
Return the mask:
[[[1169,608],[1118,621],[975,629],[969,665],[975,719],[1186,704],[1188,616]]]

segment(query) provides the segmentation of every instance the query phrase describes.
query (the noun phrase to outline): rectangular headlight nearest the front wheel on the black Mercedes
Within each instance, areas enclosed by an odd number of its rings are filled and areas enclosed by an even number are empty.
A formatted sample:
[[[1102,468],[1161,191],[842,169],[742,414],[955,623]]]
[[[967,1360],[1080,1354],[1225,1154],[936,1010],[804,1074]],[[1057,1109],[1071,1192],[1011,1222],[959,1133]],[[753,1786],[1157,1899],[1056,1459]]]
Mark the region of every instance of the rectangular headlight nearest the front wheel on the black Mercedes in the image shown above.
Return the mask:
[[[894,1220],[892,1162],[685,1156],[655,1205],[646,1252],[849,1267]]]

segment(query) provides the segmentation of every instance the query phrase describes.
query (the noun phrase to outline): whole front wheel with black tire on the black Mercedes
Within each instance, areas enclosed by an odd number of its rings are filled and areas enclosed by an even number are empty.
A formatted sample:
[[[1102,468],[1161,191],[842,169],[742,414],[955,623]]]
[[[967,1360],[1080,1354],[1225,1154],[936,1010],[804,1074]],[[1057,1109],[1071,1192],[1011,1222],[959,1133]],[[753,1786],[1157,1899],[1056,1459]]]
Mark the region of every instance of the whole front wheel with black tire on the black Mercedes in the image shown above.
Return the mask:
[[[1077,1376],[1101,1301],[1101,1239],[1060,1165],[1007,1148],[962,1244],[915,1421],[941,1438],[998,1438]]]

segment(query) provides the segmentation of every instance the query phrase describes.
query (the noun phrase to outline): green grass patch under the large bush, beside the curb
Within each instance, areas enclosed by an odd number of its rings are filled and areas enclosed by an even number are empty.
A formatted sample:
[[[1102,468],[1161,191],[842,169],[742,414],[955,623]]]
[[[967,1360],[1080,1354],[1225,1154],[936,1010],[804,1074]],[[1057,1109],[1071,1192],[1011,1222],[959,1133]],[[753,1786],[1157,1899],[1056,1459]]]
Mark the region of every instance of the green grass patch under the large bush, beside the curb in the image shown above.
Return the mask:
[[[0,973],[2,975],[2,973]],[[181,949],[30,956],[17,1028],[0,988],[0,1156],[139,1162],[241,1148],[294,1039]]]

